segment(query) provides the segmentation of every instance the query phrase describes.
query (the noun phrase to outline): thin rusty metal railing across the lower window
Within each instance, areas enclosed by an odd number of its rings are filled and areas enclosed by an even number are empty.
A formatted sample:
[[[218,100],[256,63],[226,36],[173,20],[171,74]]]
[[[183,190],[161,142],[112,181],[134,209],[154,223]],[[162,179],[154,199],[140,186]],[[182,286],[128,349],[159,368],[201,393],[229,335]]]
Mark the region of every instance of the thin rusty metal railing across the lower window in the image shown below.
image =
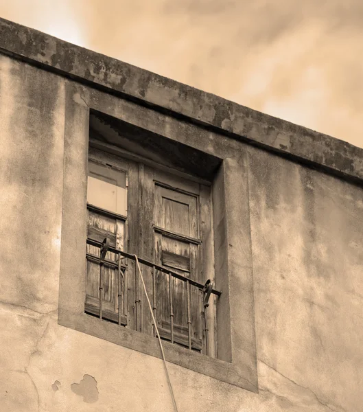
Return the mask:
[[[103,279],[103,266],[104,264],[108,264],[110,266],[113,266],[117,268],[118,270],[118,323],[121,325],[121,317],[122,314],[121,312],[124,312],[124,315],[126,313],[126,307],[125,307],[125,302],[126,302],[126,268],[127,266],[124,264],[121,264],[122,260],[130,259],[135,261],[135,256],[132,255],[131,253],[127,253],[124,251],[120,251],[119,249],[115,249],[114,247],[110,246],[110,242],[108,238],[105,238],[104,241],[97,242],[97,240],[92,240],[87,238],[87,244],[93,246],[93,247],[98,247],[100,249],[99,253],[99,258],[96,257],[95,255],[90,255],[87,253],[87,259],[91,259],[97,263],[99,263],[99,319],[103,319],[103,312],[102,312],[102,302],[103,302],[103,289],[104,289],[104,279]],[[106,253],[115,253],[117,255],[117,261],[112,261],[112,260],[106,260]],[[186,286],[186,291],[187,291],[187,325],[188,325],[188,347],[189,350],[192,349],[192,339],[191,339],[191,286],[194,286],[198,288],[202,292],[203,296],[203,306],[204,310],[202,311],[202,316],[204,317],[204,336],[205,336],[205,346],[206,346],[206,352],[209,354],[209,339],[208,339],[208,319],[207,319],[207,308],[209,306],[209,298],[211,294],[220,297],[222,292],[219,290],[215,290],[213,288],[213,284],[210,279],[207,280],[205,284],[201,284],[200,282],[197,282],[194,279],[190,279],[189,277],[186,277],[184,275],[181,275],[180,273],[176,273],[169,268],[166,268],[165,266],[161,266],[159,264],[155,264],[154,262],[150,262],[148,260],[145,260],[143,258],[139,258],[139,263],[143,264],[145,266],[148,266],[152,268],[152,310],[154,312],[154,318],[156,319],[156,271],[160,271],[162,273],[165,273],[168,278],[169,278],[169,317],[170,317],[170,341],[171,343],[174,343],[174,302],[172,298],[172,282],[171,279],[172,277],[176,279],[180,279],[181,281],[185,282]],[[122,279],[122,284],[123,284],[123,291],[121,291],[121,279]],[[138,284],[137,284],[137,279],[138,279],[138,273],[137,273],[137,266],[135,264],[135,325],[137,328],[138,325],[138,317],[139,317],[139,304],[140,304],[140,299],[139,299],[139,290],[138,290]],[[121,297],[122,297],[122,305],[121,305]],[[155,326],[154,326],[154,336],[156,336],[156,331],[155,331]]]

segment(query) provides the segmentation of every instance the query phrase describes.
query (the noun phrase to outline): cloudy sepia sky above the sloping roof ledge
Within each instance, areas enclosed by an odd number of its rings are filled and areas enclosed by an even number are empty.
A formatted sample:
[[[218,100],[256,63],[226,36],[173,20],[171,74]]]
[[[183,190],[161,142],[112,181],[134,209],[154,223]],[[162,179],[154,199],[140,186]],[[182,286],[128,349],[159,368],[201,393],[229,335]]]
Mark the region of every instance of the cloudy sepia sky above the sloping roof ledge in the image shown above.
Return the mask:
[[[0,16],[363,148],[362,0],[0,0]]]

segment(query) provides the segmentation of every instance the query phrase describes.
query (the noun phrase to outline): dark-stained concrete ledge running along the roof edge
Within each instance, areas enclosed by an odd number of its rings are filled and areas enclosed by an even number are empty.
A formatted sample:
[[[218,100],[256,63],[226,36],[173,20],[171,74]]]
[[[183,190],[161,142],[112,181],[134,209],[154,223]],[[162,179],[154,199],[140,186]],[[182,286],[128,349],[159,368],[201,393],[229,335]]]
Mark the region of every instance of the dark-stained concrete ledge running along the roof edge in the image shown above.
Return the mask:
[[[0,19],[0,52],[108,93],[187,117],[235,139],[363,180],[363,149],[150,71]]]

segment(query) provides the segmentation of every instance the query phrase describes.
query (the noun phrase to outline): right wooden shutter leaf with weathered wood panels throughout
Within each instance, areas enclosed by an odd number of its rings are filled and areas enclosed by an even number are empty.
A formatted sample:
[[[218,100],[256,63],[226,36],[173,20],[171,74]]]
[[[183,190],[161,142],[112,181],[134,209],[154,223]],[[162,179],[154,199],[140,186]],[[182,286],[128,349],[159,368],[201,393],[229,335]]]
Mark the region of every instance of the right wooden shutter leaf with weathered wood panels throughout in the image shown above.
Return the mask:
[[[156,261],[191,279],[200,280],[198,196],[155,184],[154,240]],[[158,274],[159,329],[170,339],[169,276]],[[170,278],[174,310],[174,341],[188,345],[187,285]],[[202,349],[199,290],[191,287],[192,347]]]

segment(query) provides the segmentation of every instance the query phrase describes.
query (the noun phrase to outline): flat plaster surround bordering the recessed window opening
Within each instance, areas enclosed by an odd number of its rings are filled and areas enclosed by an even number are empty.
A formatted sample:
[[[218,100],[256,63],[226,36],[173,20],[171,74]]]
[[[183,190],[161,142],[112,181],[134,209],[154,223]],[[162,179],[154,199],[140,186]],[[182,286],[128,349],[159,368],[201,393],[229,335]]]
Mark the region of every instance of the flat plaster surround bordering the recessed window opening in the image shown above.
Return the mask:
[[[151,133],[159,133],[178,144],[187,144],[207,155],[212,153],[222,160],[213,180],[212,198],[215,271],[220,274],[216,278],[216,288],[222,290],[223,296],[217,314],[222,320],[218,321],[218,334],[224,342],[222,348],[218,347],[219,358],[194,354],[168,342],[164,343],[165,356],[176,365],[257,392],[247,153],[239,142],[231,138],[216,135],[195,124],[180,122],[180,119],[167,114],[156,114],[152,108],[102,91],[79,89],[75,84],[68,87],[58,323],[116,345],[161,357],[153,336],[126,328],[119,330],[118,325],[99,322],[99,319],[84,314],[84,214],[91,108]],[[82,93],[81,101],[73,98],[77,93]],[[115,155],[119,151],[117,148]],[[236,221],[240,225],[235,225]]]

